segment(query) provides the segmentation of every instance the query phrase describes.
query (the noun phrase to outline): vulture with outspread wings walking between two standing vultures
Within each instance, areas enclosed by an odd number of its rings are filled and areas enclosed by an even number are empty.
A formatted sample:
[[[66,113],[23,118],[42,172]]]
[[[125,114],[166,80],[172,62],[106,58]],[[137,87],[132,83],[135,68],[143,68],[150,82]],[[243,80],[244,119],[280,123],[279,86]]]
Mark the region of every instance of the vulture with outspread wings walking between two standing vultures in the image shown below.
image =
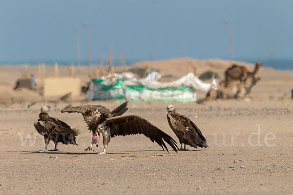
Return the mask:
[[[92,132],[92,142],[88,146],[87,150],[93,150],[92,145],[95,143],[98,147],[98,141],[100,134],[103,135],[104,152],[100,154],[106,154],[106,147],[110,142],[111,137],[115,136],[127,136],[135,134],[143,134],[148,137],[152,142],[158,143],[163,150],[167,150],[167,146],[164,141],[169,144],[175,152],[177,152],[176,141],[168,136],[166,133],[158,129],[156,126],[148,122],[142,117],[136,115],[121,116],[127,111],[127,103],[124,102],[112,112],[110,112],[104,106],[84,105],[84,106],[69,106],[67,105],[63,110],[64,112],[77,112],[82,113],[84,121],[88,125],[88,129]],[[165,149],[164,149],[165,148]]]

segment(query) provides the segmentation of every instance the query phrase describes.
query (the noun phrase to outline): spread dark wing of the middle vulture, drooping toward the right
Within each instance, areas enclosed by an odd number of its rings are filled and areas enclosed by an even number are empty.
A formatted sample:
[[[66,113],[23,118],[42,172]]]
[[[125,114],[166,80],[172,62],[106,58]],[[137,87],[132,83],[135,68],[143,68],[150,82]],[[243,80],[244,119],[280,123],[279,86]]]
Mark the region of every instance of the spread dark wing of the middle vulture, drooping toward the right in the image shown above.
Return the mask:
[[[152,142],[159,144],[163,150],[165,148],[167,152],[168,149],[164,141],[166,141],[175,152],[178,150],[177,143],[172,137],[168,136],[142,117],[136,115],[110,117],[106,119],[106,125],[111,129],[111,137],[143,134]]]

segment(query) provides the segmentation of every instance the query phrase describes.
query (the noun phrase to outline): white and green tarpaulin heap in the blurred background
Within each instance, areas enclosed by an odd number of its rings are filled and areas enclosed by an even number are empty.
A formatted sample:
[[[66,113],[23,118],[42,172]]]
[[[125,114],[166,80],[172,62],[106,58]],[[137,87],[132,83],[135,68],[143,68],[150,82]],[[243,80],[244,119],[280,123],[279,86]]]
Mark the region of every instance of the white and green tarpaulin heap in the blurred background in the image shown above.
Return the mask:
[[[111,82],[109,78],[112,78]],[[215,79],[207,84],[192,73],[172,82],[151,80],[148,77],[136,79],[132,73],[95,78],[92,79],[87,97],[89,100],[195,101],[196,91],[207,93],[210,88],[217,89]]]

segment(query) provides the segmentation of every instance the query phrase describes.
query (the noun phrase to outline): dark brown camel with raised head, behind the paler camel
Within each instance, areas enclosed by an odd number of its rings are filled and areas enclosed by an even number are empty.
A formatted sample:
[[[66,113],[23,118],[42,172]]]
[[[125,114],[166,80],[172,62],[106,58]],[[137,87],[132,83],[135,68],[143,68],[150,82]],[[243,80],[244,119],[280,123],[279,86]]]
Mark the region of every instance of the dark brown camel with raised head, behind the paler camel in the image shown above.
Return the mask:
[[[247,78],[254,77],[262,66],[263,63],[256,62],[253,72],[249,72],[245,66],[232,64],[225,72],[226,87],[231,80],[239,80],[240,82],[246,83]]]

